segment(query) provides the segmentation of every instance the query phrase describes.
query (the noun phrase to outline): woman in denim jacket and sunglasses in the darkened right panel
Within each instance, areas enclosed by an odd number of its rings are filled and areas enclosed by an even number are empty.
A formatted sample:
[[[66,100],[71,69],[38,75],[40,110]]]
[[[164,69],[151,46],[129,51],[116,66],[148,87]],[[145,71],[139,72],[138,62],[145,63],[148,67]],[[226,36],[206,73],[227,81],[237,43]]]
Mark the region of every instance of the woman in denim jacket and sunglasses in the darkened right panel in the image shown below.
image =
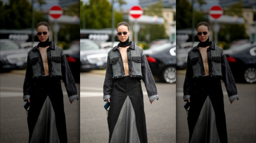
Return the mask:
[[[209,41],[209,24],[197,25],[200,43],[188,52],[183,100],[190,103],[190,143],[226,143],[227,131],[221,79],[231,104],[238,100],[237,88],[221,47]]]

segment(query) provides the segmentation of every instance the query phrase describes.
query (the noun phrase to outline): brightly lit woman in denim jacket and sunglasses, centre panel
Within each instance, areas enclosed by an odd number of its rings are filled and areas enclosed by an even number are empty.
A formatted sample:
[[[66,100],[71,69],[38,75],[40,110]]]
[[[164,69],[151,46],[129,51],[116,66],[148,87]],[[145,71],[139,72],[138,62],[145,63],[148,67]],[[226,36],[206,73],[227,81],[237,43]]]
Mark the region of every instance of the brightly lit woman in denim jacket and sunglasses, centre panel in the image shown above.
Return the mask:
[[[151,104],[158,100],[157,88],[141,47],[129,42],[126,22],[117,25],[119,44],[108,53],[103,100],[108,111],[109,143],[147,143],[142,79]]]

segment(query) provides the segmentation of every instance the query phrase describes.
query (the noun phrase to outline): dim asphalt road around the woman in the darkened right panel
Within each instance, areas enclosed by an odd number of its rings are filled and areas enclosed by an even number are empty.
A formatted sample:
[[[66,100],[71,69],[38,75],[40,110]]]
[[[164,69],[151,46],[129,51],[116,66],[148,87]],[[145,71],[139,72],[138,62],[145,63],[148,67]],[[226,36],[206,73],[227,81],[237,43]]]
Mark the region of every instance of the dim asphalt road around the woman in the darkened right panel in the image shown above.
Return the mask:
[[[184,72],[183,72],[184,73]],[[188,142],[189,132],[187,114],[183,107],[184,74],[177,74],[176,82],[176,141]],[[236,83],[239,100],[230,104],[224,83],[224,110],[226,115],[227,137],[229,143],[256,142],[256,86],[255,84]]]

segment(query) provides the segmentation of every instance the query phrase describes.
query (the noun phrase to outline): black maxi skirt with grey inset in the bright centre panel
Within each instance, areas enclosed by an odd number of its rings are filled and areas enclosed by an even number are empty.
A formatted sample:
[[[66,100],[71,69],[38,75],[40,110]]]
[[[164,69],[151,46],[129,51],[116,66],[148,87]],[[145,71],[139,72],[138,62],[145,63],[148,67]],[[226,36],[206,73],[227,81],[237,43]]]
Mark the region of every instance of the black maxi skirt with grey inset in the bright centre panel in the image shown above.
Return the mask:
[[[108,111],[109,143],[147,143],[143,93],[139,78],[114,80]]]

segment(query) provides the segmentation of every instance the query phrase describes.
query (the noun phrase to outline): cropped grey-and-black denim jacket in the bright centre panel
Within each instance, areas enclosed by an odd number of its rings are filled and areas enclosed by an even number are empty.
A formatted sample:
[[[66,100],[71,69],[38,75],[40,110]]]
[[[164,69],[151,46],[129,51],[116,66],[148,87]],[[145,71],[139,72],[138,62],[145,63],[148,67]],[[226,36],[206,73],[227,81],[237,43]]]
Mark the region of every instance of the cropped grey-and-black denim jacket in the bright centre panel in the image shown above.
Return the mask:
[[[157,87],[141,47],[131,42],[127,48],[129,76],[139,77],[145,83],[149,101],[158,100]],[[126,76],[118,45],[108,52],[106,77],[103,85],[103,100],[111,98],[113,80]]]

